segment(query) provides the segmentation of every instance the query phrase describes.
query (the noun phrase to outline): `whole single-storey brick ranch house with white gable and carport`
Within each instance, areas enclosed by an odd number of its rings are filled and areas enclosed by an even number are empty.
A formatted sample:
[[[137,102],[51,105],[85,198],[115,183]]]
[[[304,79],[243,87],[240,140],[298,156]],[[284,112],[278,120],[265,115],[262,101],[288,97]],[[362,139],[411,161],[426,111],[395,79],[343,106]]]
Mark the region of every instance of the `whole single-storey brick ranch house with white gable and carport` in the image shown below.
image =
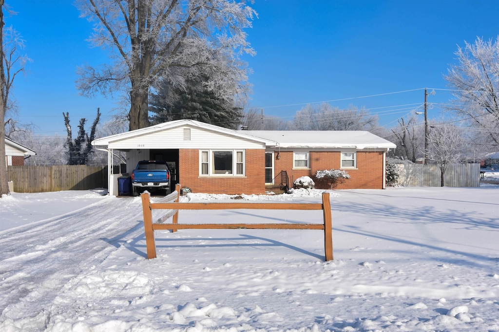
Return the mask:
[[[395,144],[365,131],[235,131],[194,120],[176,120],[97,139],[92,145],[108,152],[108,165],[126,152],[131,172],[141,160],[163,160],[172,184],[193,192],[261,194],[272,185],[317,170],[344,169],[351,178],[339,189],[385,187],[385,158]],[[118,194],[109,173],[109,193]],[[283,183],[287,175],[289,183]]]

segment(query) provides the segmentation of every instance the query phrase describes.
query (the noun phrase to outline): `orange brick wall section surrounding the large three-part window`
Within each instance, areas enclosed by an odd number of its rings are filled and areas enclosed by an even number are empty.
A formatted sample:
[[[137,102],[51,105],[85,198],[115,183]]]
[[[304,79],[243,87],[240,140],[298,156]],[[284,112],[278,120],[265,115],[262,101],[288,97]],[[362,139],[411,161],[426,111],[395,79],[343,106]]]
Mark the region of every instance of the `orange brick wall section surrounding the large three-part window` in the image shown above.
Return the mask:
[[[265,150],[246,150],[246,176],[199,176],[199,150],[180,149],[179,182],[193,192],[261,194],[265,192]]]

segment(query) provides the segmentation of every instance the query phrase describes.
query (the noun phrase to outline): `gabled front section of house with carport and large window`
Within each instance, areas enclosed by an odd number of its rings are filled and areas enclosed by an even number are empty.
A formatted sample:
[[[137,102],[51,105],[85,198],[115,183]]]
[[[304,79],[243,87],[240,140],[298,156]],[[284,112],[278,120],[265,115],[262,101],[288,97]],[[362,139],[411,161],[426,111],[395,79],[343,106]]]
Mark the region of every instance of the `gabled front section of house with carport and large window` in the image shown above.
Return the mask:
[[[131,174],[142,160],[167,162],[172,185],[180,181],[200,192],[264,192],[265,148],[276,142],[198,121],[177,120],[97,139],[92,145],[108,153],[109,194],[116,196],[118,178]],[[232,171],[220,173],[215,169],[223,154],[231,156]],[[113,172],[113,165],[118,165],[123,155],[126,172]],[[202,162],[205,156],[210,163],[207,173],[208,163]]]

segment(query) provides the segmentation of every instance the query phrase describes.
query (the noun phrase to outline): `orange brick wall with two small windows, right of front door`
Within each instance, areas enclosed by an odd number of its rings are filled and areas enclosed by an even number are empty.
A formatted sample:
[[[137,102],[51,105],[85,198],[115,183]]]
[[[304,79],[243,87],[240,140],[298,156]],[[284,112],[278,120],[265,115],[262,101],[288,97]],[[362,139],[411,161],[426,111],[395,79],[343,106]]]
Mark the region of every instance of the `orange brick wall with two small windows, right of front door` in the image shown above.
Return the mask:
[[[275,153],[274,156],[277,156]],[[314,178],[317,170],[340,169],[340,152],[314,152],[309,155],[310,169],[293,169],[293,152],[279,153],[279,159],[274,160],[275,174],[281,170],[287,171],[289,181],[300,176]],[[383,153],[382,152],[357,152],[357,169],[345,169],[350,178],[337,189],[381,189],[383,188]],[[292,185],[292,183],[291,183]],[[328,189],[328,186],[317,184],[316,188]]]

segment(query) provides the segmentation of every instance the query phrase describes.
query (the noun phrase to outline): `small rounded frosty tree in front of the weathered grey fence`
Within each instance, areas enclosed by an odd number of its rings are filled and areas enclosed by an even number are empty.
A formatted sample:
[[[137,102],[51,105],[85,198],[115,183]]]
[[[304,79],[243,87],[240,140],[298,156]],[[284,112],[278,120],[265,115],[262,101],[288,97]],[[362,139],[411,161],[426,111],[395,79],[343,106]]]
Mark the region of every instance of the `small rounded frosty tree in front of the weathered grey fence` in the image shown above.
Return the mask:
[[[463,129],[450,123],[433,123],[428,132],[428,160],[440,165],[440,185],[450,164],[463,162],[468,155],[469,138]]]

